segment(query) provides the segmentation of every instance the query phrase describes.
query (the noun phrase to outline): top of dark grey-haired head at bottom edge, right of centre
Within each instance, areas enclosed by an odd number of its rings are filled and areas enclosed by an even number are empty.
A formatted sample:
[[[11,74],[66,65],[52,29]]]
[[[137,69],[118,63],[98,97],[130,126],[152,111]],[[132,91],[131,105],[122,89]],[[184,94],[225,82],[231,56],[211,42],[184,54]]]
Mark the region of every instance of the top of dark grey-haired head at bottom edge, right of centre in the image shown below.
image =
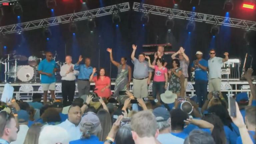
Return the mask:
[[[201,130],[193,130],[185,139],[184,144],[215,144],[212,136]]]

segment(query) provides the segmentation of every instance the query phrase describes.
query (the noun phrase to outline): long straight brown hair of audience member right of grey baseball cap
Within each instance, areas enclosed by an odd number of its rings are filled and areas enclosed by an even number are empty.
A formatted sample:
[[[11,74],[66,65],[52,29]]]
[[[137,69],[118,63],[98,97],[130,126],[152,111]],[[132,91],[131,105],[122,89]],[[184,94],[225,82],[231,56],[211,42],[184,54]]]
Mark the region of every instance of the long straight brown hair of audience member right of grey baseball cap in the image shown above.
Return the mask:
[[[112,127],[112,122],[111,122],[111,117],[108,111],[104,109],[100,109],[97,113],[99,119],[100,119],[100,124],[102,128],[102,133],[99,137],[100,141],[104,141],[106,137],[108,136],[109,131],[111,130]]]

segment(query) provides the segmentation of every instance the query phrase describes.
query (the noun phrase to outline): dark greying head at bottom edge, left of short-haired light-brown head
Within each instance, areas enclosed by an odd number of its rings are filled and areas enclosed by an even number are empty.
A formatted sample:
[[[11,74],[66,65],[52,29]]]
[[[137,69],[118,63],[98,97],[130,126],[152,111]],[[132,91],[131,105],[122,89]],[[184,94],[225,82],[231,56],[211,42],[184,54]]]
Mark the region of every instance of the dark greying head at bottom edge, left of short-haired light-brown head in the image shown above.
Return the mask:
[[[118,129],[115,137],[116,144],[135,144],[132,139],[132,129],[130,124],[125,124]]]

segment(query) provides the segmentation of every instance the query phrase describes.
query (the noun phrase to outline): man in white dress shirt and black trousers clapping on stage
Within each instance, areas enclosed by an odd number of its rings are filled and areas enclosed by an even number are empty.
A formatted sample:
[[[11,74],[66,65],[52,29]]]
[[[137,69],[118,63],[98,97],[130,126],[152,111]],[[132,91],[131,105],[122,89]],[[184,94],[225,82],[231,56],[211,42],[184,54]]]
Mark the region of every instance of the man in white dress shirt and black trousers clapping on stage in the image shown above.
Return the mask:
[[[74,100],[75,90],[76,90],[76,75],[79,74],[79,71],[74,70],[74,64],[72,64],[72,57],[66,56],[66,64],[63,65],[60,69],[61,80],[61,91],[63,98],[63,105],[71,104]],[[67,102],[68,101],[68,102]]]

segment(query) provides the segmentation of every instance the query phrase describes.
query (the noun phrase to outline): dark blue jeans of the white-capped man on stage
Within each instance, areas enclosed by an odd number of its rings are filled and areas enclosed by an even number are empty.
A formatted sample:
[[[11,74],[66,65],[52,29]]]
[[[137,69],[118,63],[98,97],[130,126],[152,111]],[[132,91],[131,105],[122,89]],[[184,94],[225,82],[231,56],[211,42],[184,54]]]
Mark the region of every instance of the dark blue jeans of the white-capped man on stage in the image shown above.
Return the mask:
[[[197,96],[197,103],[199,107],[202,107],[204,101],[207,98],[207,84],[208,81],[205,80],[195,80],[195,90]]]

